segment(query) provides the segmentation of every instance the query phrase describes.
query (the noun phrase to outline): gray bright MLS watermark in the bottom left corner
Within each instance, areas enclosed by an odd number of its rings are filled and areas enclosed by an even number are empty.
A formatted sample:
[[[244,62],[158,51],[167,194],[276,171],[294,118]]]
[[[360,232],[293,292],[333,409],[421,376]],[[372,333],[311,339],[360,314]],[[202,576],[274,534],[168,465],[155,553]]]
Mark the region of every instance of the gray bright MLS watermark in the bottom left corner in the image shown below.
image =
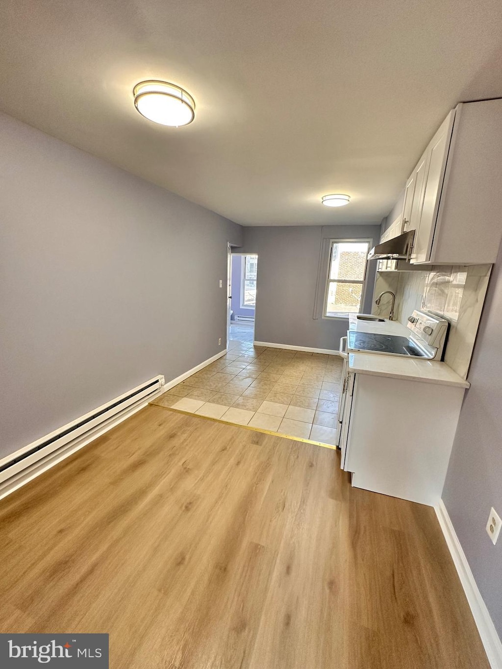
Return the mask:
[[[0,667],[108,669],[108,634],[0,634]]]

